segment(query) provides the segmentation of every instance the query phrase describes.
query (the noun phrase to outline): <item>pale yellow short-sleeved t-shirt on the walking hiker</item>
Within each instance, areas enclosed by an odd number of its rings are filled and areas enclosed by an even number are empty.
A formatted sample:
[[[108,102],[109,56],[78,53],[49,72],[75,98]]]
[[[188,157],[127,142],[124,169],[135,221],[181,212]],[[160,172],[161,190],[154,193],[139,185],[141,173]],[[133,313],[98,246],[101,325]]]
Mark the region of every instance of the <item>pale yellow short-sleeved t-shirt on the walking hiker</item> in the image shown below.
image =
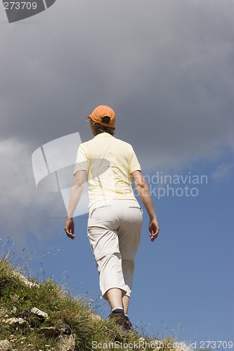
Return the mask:
[[[73,174],[77,171],[88,173],[89,206],[101,199],[136,200],[131,173],[141,166],[133,147],[109,133],[79,146]]]

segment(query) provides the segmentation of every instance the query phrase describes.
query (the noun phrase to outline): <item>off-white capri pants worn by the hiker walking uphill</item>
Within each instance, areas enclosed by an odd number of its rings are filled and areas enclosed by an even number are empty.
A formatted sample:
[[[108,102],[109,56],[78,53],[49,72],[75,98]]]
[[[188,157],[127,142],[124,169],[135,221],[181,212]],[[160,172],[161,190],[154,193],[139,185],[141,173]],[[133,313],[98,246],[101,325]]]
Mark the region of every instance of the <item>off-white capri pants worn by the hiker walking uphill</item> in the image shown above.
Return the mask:
[[[130,297],[142,225],[142,209],[135,200],[100,200],[89,208],[88,237],[105,299],[112,288]]]

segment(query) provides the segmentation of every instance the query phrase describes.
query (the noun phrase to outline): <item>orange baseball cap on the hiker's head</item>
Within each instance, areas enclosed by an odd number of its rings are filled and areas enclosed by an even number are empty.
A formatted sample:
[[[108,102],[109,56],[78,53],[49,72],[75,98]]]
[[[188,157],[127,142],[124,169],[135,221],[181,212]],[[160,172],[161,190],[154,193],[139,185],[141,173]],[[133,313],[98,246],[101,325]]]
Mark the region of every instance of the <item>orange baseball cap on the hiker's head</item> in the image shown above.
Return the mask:
[[[115,111],[109,106],[100,105],[88,116],[93,122],[100,124],[101,126],[114,128],[115,127]],[[109,117],[104,118],[104,117]],[[103,121],[104,119],[104,121]]]

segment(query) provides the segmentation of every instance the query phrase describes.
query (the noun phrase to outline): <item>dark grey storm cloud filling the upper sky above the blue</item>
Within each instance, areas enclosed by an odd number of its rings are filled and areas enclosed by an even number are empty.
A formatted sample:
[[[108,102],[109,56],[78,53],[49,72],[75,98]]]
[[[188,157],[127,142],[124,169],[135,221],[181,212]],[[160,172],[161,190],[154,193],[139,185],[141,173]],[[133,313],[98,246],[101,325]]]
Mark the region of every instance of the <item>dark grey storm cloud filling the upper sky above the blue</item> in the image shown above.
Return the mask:
[[[76,131],[91,138],[86,115],[101,104],[115,109],[116,136],[134,145],[145,168],[233,147],[233,15],[228,0],[56,1],[34,22],[11,25],[2,12],[7,167],[32,176],[37,147]]]

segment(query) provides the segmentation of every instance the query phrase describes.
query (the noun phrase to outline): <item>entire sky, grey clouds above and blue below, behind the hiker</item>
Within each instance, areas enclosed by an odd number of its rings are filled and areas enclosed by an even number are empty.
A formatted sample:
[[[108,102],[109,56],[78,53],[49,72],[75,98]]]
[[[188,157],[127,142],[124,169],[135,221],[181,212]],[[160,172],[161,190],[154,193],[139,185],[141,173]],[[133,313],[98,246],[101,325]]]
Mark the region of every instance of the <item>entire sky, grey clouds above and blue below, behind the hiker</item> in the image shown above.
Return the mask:
[[[67,272],[77,294],[98,298],[86,216],[79,240],[67,241],[63,199],[37,189],[31,157],[64,135],[88,140],[86,116],[110,105],[161,226],[154,246],[143,235],[136,260],[134,323],[191,342],[233,338],[233,16],[229,0],[57,0],[8,24],[1,6],[1,251],[14,237],[34,270],[44,260],[46,274]],[[159,173],[183,176],[196,196],[181,183],[168,193],[162,180],[159,199]]]

